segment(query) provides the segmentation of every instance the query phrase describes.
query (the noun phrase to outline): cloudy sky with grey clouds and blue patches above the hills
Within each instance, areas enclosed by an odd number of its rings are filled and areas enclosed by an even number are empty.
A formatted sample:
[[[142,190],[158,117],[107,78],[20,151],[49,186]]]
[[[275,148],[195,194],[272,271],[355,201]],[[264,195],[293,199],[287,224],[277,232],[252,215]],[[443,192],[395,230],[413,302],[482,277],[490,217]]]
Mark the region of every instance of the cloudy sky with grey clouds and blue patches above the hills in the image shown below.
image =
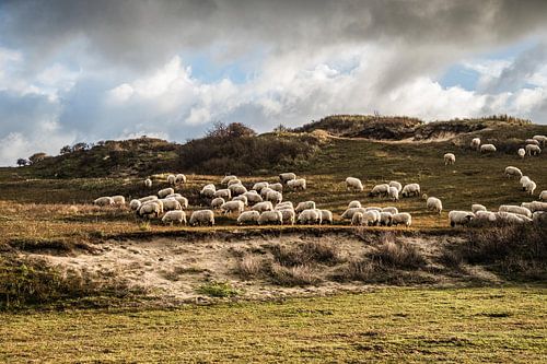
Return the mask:
[[[0,165],[374,111],[547,124],[547,1],[0,1]]]

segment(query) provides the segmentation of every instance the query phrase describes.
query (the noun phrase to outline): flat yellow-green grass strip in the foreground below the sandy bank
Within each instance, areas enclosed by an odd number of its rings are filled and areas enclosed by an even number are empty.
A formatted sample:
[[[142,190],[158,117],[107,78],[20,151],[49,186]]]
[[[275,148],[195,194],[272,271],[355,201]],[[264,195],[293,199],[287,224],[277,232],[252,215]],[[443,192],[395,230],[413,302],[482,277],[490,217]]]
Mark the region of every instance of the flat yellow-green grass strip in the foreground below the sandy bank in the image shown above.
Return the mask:
[[[546,293],[387,289],[174,310],[0,314],[0,361],[540,363]]]

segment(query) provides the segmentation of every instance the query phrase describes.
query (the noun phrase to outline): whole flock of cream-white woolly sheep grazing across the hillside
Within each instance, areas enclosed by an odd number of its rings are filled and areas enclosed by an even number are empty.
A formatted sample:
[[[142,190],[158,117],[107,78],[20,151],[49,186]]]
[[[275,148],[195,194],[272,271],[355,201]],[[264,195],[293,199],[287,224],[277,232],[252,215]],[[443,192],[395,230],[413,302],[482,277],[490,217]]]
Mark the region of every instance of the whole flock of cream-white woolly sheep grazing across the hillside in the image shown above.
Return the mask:
[[[534,142],[532,142],[534,141]],[[526,140],[524,154],[536,155],[540,153],[540,145],[544,146],[547,137],[535,136]],[[470,146],[480,152],[496,151],[493,144],[480,144],[480,139],[472,140]],[[453,153],[444,154],[445,165],[454,164],[456,157]],[[520,177],[520,183],[526,192],[533,196],[536,184],[527,176],[523,176],[521,169],[508,166],[505,168],[508,177]],[[247,189],[243,183],[233,175],[224,176],[220,184],[222,188],[217,188],[213,184],[206,185],[200,190],[200,196],[209,201],[210,209],[194,211],[187,221],[185,210],[188,208],[188,199],[181,193],[176,193],[174,187],[187,181],[183,174],[168,175],[167,183],[173,187],[164,188],[156,195],[133,199],[129,207],[139,218],[159,218],[162,215],[164,223],[181,223],[189,225],[214,225],[214,211],[220,211],[224,215],[237,216],[238,225],[243,224],[324,224],[333,223],[333,212],[317,209],[314,201],[300,202],[294,207],[291,201],[283,201],[283,189],[305,190],[306,180],[298,178],[294,173],[282,173],[279,175],[279,183],[257,181],[252,189]],[[150,178],[144,180],[147,188],[152,188]],[[364,190],[359,178],[346,178],[348,191]],[[426,208],[430,211],[441,213],[442,201],[435,197],[428,197],[421,193],[419,184],[412,183],[403,186],[400,183],[392,180],[388,184],[380,184],[369,192],[370,197],[384,197],[392,201],[398,201],[399,197],[422,197],[426,200]],[[547,200],[547,190],[539,195],[539,200]],[[94,201],[98,206],[125,204],[123,196],[101,197]],[[410,226],[412,216],[408,212],[399,212],[395,207],[362,207],[360,201],[351,201],[347,210],[340,216],[351,225],[361,226]],[[524,223],[534,220],[545,220],[547,218],[547,202],[534,201],[523,202],[521,206],[501,206],[498,212],[487,211],[481,204],[474,203],[472,211],[450,211],[449,222],[451,226],[467,225],[472,221],[481,223],[510,222]]]

